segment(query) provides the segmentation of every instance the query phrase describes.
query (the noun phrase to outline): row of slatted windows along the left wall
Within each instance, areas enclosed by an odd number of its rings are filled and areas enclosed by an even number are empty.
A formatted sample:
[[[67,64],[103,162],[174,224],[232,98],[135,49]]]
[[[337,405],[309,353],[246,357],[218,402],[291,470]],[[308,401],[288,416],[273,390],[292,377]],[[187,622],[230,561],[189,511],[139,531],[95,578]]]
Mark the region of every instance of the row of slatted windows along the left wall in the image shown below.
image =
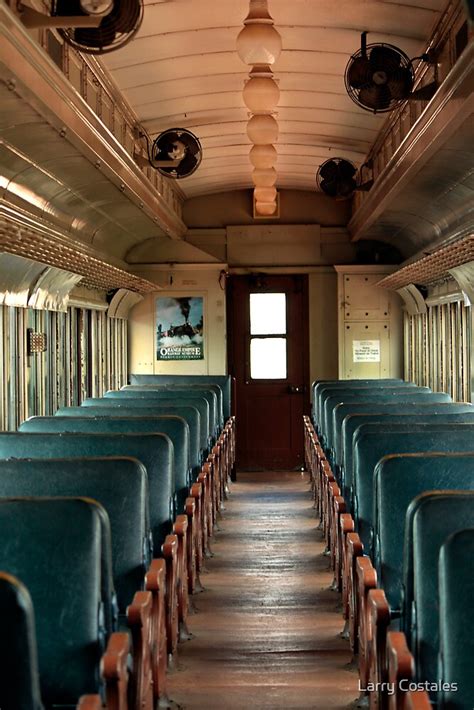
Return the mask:
[[[46,335],[30,354],[28,331]],[[0,428],[51,415],[127,382],[127,321],[104,311],[0,306]]]

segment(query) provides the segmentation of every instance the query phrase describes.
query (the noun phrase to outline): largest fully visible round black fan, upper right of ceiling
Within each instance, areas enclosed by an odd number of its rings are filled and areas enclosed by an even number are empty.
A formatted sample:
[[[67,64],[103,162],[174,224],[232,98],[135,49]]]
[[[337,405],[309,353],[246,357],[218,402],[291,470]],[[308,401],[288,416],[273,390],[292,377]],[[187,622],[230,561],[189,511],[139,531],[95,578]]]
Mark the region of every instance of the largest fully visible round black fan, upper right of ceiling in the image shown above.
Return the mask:
[[[344,82],[358,106],[373,113],[386,113],[407,100],[415,73],[411,60],[399,47],[374,43],[351,56]]]

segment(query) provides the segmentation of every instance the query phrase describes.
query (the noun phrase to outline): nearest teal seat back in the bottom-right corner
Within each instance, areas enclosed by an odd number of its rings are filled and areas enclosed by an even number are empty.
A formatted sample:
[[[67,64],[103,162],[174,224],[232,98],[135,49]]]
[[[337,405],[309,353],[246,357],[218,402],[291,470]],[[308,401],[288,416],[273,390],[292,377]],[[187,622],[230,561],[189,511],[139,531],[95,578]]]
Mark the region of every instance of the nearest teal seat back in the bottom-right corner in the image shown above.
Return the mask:
[[[474,529],[449,537],[439,557],[440,673],[448,688],[438,696],[438,707],[465,710],[474,698],[474,636],[469,623],[474,599]]]

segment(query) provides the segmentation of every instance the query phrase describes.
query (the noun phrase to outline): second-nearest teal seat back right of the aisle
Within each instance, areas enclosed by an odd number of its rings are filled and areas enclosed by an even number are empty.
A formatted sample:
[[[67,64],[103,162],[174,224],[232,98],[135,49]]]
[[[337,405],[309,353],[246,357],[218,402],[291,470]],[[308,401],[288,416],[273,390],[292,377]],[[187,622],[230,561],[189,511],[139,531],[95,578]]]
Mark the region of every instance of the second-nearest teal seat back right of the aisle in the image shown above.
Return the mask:
[[[464,482],[471,471],[474,480],[474,454],[430,458],[435,467],[449,469],[450,478]],[[468,527],[474,527],[474,490],[424,493],[407,510],[402,623],[420,681],[438,679],[439,552],[449,535]]]

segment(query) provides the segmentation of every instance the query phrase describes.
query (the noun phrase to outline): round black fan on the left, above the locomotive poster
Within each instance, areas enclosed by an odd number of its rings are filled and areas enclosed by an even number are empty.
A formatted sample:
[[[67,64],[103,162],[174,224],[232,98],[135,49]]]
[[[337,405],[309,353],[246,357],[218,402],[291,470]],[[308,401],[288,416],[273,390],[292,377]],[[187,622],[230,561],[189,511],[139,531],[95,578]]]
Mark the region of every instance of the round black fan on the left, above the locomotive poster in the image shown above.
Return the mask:
[[[161,167],[158,161],[179,159],[176,167]],[[201,164],[202,148],[199,138],[187,128],[170,128],[155,138],[150,151],[150,164],[165,177],[175,180],[192,175]]]

